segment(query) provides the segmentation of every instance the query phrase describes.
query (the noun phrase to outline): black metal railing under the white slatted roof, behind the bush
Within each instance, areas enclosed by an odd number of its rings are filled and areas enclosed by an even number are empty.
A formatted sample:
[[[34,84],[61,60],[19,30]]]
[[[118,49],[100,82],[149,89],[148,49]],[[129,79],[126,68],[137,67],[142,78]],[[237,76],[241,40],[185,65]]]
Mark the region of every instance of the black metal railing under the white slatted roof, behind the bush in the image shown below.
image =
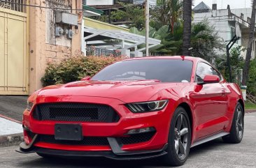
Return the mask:
[[[109,49],[101,49],[93,46],[86,47],[87,56],[121,56],[122,53],[120,50],[109,50]]]

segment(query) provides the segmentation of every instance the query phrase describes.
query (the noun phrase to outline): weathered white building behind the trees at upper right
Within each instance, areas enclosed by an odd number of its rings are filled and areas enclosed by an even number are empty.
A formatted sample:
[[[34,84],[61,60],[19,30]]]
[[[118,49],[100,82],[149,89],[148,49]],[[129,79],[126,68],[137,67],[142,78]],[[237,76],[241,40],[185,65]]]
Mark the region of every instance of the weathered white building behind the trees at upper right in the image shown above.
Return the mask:
[[[198,6],[193,8],[194,21],[195,23],[203,20],[208,20],[210,24],[215,27],[218,34],[226,43],[229,43],[236,32],[235,25],[239,24],[241,40],[236,42],[235,46],[241,45],[245,48],[248,46],[249,26],[250,26],[250,15],[252,12],[251,8],[234,9],[231,10],[229,6],[227,9],[217,9],[217,4],[213,4],[213,8],[207,6],[204,2],[199,3]],[[252,58],[255,58],[256,43],[253,41]],[[242,56],[246,57],[246,52],[242,53]]]

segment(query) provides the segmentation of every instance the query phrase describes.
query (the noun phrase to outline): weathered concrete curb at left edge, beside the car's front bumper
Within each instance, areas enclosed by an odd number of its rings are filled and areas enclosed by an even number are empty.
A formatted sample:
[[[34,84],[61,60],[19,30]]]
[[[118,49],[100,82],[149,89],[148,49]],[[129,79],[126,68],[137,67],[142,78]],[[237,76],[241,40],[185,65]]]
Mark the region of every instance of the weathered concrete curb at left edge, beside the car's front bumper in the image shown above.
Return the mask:
[[[0,135],[0,148],[19,145],[23,141],[23,133],[12,135]]]

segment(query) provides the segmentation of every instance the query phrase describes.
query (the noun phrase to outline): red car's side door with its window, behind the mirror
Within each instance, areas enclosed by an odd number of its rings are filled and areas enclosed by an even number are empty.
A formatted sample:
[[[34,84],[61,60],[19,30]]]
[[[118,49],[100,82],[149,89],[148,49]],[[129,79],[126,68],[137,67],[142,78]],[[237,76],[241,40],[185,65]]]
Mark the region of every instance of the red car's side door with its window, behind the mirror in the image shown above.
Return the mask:
[[[212,66],[204,62],[197,64],[195,82],[203,81],[206,75],[222,76]],[[196,115],[196,138],[206,137],[220,132],[228,122],[225,117],[227,112],[227,95],[222,82],[213,84],[195,83],[194,93],[190,95],[194,101]]]

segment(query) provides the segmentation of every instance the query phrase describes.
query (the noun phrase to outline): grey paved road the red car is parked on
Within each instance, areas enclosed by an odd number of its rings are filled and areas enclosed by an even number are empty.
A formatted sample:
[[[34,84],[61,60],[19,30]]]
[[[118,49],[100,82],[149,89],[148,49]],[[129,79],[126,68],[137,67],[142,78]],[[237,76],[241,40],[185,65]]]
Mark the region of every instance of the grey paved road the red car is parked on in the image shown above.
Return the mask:
[[[192,148],[190,157],[183,167],[256,167],[256,113],[246,114],[246,131],[241,144],[225,144],[216,139]],[[17,146],[0,148],[0,167],[147,167],[156,168],[157,160],[140,162],[118,162],[103,158],[86,160],[45,160],[36,154],[20,154],[14,150]]]

